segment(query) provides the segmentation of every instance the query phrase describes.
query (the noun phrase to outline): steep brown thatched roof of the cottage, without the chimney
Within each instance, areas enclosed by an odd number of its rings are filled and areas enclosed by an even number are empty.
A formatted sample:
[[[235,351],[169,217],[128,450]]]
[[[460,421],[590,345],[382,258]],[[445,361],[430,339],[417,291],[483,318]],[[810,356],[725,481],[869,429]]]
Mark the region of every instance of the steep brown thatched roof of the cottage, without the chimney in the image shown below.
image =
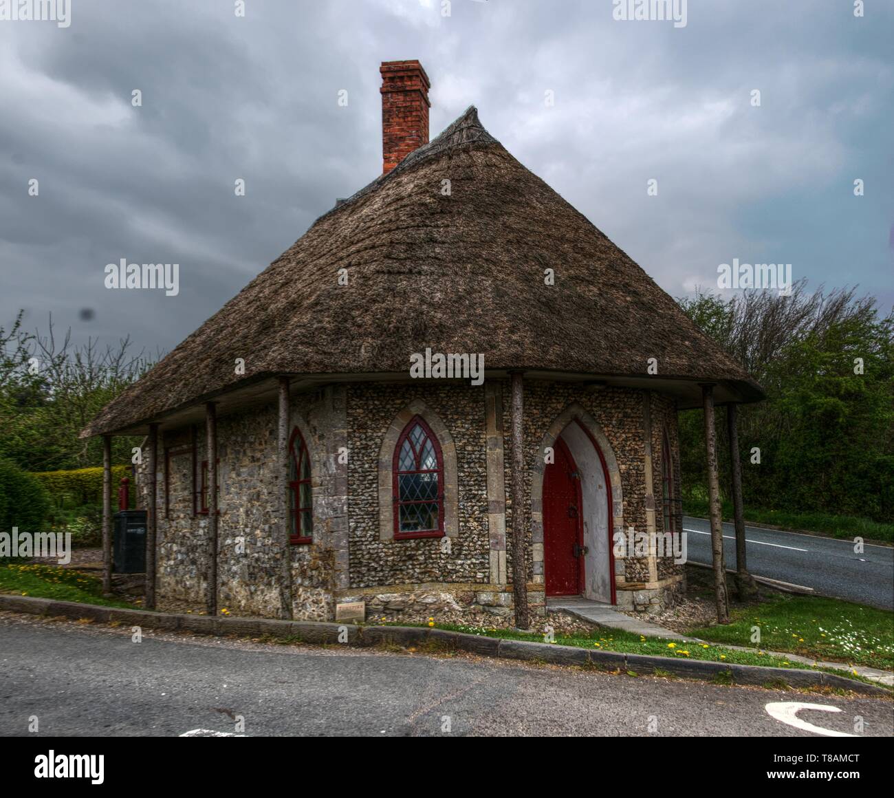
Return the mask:
[[[339,284],[342,268],[348,285]],[[546,268],[554,285],[544,284]],[[745,401],[763,396],[470,107],[320,216],[84,434],[133,429],[274,374],[406,374],[409,355],[426,347],[482,352],[488,370],[631,378],[656,358],[663,378],[723,381]]]

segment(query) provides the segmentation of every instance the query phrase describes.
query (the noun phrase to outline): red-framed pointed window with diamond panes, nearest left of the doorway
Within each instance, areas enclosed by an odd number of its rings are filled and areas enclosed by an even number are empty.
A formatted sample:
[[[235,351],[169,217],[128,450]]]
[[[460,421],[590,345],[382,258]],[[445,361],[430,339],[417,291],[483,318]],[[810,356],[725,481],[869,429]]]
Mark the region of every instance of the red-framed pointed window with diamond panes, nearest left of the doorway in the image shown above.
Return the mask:
[[[441,444],[420,416],[398,438],[392,464],[394,538],[439,538],[444,533]]]

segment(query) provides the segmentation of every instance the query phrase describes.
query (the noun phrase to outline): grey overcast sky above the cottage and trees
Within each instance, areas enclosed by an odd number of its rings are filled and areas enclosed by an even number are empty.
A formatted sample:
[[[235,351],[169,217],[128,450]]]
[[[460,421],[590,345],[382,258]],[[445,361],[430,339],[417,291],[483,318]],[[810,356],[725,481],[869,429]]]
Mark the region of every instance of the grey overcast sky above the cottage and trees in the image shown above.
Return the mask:
[[[0,325],[24,308],[77,340],[173,348],[379,174],[378,66],[409,58],[432,138],[476,105],[672,295],[738,258],[894,301],[890,0],[862,19],[852,0],[689,0],[685,27],[615,21],[611,0],[245,9],[72,0],[67,28],[0,21]],[[106,289],[122,258],[179,263],[179,295]]]

